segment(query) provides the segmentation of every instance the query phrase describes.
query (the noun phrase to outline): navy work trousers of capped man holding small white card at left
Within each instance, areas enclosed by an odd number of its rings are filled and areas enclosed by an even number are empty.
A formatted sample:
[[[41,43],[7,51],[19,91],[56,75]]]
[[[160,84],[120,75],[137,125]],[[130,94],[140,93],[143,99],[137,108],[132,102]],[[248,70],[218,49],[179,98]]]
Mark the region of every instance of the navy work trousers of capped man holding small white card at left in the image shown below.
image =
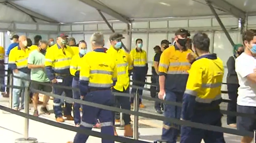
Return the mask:
[[[62,79],[62,82],[54,83],[53,85],[62,85],[66,87],[72,86],[72,79],[73,79],[72,76],[66,76],[65,78],[57,76],[56,78]],[[67,97],[72,98],[72,90],[53,86],[53,94],[62,95],[63,92],[65,92]],[[53,99],[53,110],[55,113],[55,118],[62,117],[60,99],[58,98]],[[68,103],[65,101],[64,115],[66,116],[71,115],[71,111],[72,111],[72,103]]]

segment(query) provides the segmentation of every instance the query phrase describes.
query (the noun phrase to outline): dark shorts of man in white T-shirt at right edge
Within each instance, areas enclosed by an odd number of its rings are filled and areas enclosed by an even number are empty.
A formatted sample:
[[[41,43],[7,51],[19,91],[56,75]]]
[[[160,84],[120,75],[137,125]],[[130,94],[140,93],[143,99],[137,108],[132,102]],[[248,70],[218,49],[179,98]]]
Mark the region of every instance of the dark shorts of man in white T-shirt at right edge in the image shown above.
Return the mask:
[[[253,106],[240,106],[237,105],[237,112],[256,114],[256,107]],[[256,130],[256,119],[248,117],[237,117],[237,128],[241,131],[250,131]],[[253,137],[253,136],[250,136]]]

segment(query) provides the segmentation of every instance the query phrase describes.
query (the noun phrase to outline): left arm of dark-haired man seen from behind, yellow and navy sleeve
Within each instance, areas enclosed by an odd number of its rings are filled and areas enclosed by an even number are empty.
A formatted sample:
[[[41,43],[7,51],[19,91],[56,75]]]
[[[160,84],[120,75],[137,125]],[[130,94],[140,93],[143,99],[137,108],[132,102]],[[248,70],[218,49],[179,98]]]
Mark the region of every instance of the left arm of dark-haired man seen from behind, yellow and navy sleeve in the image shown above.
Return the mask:
[[[194,114],[197,93],[202,86],[203,68],[193,64],[189,71],[186,91],[183,95],[181,119],[190,120]]]

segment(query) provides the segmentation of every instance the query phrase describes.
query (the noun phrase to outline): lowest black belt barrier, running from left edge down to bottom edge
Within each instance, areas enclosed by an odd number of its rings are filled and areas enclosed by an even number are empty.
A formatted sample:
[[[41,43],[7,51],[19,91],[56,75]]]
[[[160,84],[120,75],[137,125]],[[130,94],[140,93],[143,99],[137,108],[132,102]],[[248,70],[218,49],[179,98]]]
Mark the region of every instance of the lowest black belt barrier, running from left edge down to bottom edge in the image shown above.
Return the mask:
[[[10,109],[10,108],[2,106],[2,105],[0,105],[0,110],[4,110],[4,111],[10,112],[10,113],[13,113],[17,116],[28,118],[28,119],[31,119],[31,120],[34,120],[34,121],[37,121],[40,123],[44,123],[47,125],[51,125],[54,127],[58,127],[58,128],[78,132],[78,133],[83,133],[83,134],[87,134],[87,135],[91,135],[91,136],[95,136],[95,137],[99,137],[99,138],[103,138],[103,139],[115,140],[118,142],[125,142],[125,143],[151,143],[151,142],[142,141],[142,140],[135,140],[135,139],[125,138],[125,137],[120,137],[120,136],[112,136],[112,135],[108,135],[108,134],[102,134],[100,132],[92,131],[92,130],[84,130],[84,129],[81,129],[81,128],[78,128],[75,126],[70,126],[67,124],[62,124],[62,123],[54,122],[51,120],[35,117],[32,115],[27,115],[26,113],[16,111],[16,110]]]

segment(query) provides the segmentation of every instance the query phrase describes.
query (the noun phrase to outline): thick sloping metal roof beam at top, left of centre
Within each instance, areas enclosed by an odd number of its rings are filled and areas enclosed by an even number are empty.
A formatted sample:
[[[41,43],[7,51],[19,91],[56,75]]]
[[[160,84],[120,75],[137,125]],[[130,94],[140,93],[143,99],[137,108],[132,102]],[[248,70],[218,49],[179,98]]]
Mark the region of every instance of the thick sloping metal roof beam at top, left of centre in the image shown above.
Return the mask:
[[[105,6],[95,2],[93,0],[79,0],[79,1],[84,3],[84,4],[87,4],[87,5],[91,6],[95,9],[97,9],[97,10],[100,10],[100,11],[102,11],[102,12],[104,12],[104,13],[106,13],[106,14],[108,14],[108,15],[110,15],[110,16],[112,16],[112,17],[114,17],[114,18],[116,18],[116,19],[118,19],[122,22],[124,22],[124,23],[127,23],[127,24],[130,23],[130,18],[129,17],[123,16],[123,15],[119,14],[118,12],[116,12],[116,11],[114,11],[114,10],[108,8],[108,7],[105,7]]]

